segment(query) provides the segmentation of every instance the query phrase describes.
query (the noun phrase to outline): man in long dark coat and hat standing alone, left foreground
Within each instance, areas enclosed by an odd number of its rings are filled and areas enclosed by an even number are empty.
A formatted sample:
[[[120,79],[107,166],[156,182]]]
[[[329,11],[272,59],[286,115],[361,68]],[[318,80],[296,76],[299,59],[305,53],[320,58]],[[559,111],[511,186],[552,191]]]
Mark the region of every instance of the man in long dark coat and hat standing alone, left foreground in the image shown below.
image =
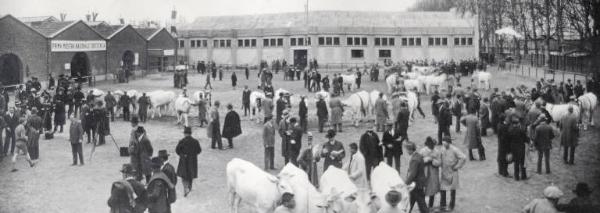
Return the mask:
[[[179,155],[177,175],[183,182],[184,196],[192,191],[192,180],[198,177],[198,155],[202,152],[198,140],[192,137],[192,128],[185,127],[184,138],[179,141],[175,152]]]

